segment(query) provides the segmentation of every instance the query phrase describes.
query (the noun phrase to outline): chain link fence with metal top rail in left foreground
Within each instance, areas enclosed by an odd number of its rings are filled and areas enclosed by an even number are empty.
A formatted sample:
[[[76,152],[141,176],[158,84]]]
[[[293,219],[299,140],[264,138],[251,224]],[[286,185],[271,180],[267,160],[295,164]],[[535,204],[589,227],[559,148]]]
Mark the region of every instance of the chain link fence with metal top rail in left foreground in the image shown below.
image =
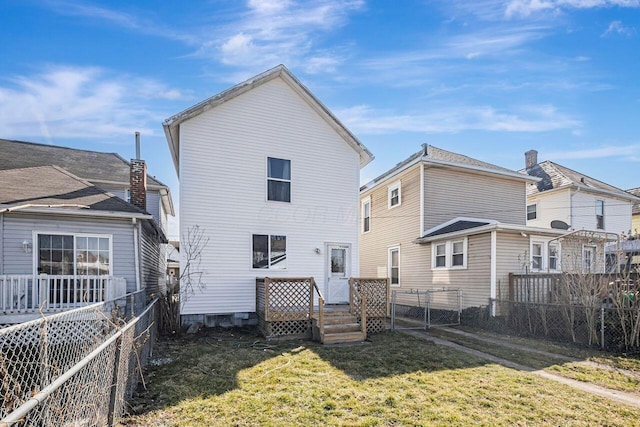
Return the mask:
[[[0,427],[116,422],[157,333],[157,300],[143,301],[130,294],[0,329]]]

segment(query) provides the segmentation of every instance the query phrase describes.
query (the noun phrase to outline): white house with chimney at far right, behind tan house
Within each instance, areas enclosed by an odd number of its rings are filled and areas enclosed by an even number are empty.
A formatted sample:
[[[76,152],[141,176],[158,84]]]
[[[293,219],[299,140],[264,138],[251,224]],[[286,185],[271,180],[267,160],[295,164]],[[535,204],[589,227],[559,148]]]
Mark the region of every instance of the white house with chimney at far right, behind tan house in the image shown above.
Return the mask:
[[[631,230],[638,197],[557,163],[538,163],[535,150],[525,153],[525,166],[521,172],[539,178],[527,187],[527,225],[614,236]]]

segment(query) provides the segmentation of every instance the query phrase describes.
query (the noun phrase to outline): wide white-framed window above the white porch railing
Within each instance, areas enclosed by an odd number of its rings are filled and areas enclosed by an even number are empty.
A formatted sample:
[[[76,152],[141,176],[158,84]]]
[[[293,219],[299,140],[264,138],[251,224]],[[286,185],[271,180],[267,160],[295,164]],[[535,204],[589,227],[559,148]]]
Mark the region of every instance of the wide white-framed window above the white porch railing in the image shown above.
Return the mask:
[[[38,234],[40,274],[99,276],[111,274],[108,236]]]

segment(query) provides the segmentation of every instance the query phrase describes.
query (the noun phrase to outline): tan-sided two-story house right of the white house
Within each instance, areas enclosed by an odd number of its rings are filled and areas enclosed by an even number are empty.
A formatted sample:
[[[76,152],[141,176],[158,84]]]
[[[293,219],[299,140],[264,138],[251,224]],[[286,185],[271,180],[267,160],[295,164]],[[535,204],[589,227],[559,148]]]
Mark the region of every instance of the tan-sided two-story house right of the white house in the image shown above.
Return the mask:
[[[509,273],[560,271],[575,255],[561,251],[566,232],[526,224],[537,181],[424,145],[361,188],[360,274],[401,292],[461,289],[466,308],[506,298]],[[604,268],[602,249],[587,261]]]

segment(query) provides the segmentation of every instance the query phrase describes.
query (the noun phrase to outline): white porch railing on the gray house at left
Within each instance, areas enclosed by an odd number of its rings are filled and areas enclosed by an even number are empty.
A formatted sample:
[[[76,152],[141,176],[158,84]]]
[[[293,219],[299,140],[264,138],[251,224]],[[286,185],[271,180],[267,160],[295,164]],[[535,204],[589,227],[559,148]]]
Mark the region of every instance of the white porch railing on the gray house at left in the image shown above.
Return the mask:
[[[126,293],[113,276],[0,275],[0,315],[69,310]]]

